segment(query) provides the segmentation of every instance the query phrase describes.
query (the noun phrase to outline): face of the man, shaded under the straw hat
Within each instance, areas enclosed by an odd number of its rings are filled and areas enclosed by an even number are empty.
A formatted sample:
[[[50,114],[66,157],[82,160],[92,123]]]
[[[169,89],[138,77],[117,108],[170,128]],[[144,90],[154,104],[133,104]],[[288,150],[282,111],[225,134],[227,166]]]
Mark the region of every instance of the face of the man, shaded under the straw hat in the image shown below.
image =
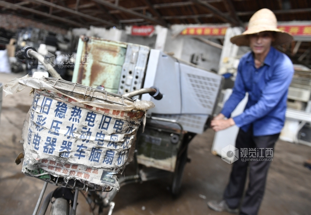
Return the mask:
[[[269,50],[274,37],[271,31],[262,31],[249,36],[249,46],[255,54],[262,54]]]

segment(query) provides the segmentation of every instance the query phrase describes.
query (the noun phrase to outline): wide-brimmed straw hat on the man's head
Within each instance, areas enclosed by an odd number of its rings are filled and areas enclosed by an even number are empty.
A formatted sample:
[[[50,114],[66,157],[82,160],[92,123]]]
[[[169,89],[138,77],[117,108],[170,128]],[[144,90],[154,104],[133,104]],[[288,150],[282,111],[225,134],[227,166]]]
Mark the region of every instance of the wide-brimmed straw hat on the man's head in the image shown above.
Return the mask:
[[[257,34],[262,31],[276,32],[274,35],[275,41],[271,45],[281,45],[293,40],[293,36],[289,33],[277,29],[276,16],[271,10],[264,8],[253,14],[248,22],[248,29],[246,31],[240,35],[231,37],[230,41],[239,46],[249,46],[248,35]]]

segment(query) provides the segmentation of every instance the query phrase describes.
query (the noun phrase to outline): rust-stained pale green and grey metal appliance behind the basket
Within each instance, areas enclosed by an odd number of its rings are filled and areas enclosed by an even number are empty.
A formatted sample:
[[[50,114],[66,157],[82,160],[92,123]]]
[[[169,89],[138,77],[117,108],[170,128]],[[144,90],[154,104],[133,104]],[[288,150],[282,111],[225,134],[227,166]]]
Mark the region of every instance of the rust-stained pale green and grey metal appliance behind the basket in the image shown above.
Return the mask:
[[[94,88],[102,85],[118,94],[140,89],[149,51],[143,45],[81,36],[72,82]]]

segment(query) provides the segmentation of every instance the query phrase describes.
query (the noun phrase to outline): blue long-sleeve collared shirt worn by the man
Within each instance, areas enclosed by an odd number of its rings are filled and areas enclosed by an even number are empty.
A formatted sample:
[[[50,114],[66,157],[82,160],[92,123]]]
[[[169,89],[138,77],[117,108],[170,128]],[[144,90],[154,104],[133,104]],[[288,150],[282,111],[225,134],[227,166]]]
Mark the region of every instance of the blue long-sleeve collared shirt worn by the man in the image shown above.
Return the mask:
[[[273,47],[259,69],[255,67],[253,53],[246,53],[240,59],[233,92],[221,113],[230,118],[231,112],[248,92],[244,112],[233,117],[235,124],[246,132],[253,123],[254,136],[280,133],[293,74],[291,60]]]

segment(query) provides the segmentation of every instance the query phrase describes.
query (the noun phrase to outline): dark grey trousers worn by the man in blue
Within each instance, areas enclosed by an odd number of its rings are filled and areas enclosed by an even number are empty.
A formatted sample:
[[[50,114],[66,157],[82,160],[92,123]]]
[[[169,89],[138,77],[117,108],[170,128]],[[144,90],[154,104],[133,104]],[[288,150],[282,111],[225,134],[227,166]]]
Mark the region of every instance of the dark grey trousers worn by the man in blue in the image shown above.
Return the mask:
[[[279,135],[253,136],[252,127],[247,132],[240,129],[236,138],[235,147],[239,149],[239,152],[241,151],[240,148],[274,148]],[[259,156],[265,156],[265,150],[259,150]],[[225,189],[224,199],[229,208],[238,208],[241,204],[241,215],[256,215],[265,191],[266,178],[271,161],[268,158],[267,161],[243,162],[240,155],[239,160],[233,163],[230,181]],[[248,166],[249,184],[242,200]]]

